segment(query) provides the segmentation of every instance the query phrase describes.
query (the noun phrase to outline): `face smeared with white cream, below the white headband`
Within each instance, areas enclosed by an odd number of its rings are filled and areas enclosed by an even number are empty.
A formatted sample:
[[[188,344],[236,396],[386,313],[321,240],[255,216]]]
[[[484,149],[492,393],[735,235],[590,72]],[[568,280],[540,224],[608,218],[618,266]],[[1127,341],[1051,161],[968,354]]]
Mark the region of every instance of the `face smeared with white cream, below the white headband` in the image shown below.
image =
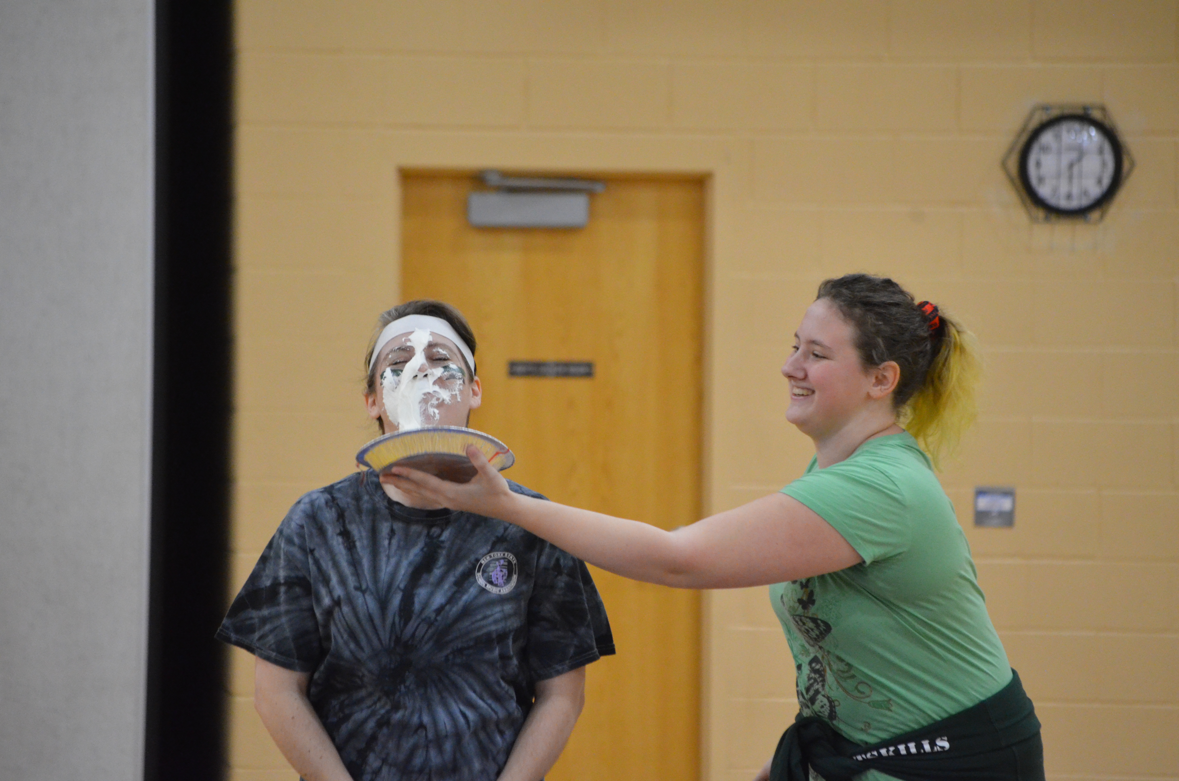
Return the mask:
[[[446,336],[415,330],[389,340],[373,366],[374,390],[364,394],[369,416],[381,420],[386,433],[466,426],[482,402],[482,386],[463,367]]]

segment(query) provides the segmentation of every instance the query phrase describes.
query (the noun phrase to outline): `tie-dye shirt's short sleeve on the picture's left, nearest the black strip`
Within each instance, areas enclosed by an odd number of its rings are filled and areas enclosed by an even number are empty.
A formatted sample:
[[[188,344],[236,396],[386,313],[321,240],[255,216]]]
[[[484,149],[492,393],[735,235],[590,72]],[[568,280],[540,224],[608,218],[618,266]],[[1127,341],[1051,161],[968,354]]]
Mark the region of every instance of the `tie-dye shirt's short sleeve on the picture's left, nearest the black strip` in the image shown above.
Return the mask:
[[[297,672],[312,672],[323,656],[308,566],[304,498],[266,544],[242,591],[230,604],[217,638]]]

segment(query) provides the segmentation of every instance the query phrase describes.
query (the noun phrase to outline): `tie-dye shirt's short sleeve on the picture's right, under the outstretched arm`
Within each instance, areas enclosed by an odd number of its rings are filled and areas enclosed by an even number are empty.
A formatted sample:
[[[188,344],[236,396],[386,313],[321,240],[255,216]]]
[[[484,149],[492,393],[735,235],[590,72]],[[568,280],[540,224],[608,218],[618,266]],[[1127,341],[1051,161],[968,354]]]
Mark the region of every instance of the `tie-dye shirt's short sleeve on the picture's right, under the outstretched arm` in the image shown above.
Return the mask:
[[[542,542],[528,600],[532,678],[555,678],[613,652],[606,606],[590,570],[581,559]]]

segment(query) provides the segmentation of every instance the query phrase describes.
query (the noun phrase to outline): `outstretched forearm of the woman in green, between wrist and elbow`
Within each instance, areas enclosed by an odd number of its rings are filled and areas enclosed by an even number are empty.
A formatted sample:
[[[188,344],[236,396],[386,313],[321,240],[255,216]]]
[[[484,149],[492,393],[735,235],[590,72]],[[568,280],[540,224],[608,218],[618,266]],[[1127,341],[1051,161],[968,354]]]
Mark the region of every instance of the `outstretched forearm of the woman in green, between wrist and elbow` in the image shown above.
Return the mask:
[[[513,493],[498,517],[594,566],[635,580],[694,588],[691,549],[658,526]]]

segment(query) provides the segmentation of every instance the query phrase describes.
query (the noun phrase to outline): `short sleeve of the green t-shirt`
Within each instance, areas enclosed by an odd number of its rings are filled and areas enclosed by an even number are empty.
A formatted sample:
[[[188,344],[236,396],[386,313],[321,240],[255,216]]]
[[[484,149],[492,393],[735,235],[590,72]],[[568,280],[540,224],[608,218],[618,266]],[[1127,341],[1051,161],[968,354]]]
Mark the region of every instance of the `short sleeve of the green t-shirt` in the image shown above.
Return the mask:
[[[909,549],[913,529],[903,492],[868,459],[810,470],[782,490],[831,524],[865,564]]]

